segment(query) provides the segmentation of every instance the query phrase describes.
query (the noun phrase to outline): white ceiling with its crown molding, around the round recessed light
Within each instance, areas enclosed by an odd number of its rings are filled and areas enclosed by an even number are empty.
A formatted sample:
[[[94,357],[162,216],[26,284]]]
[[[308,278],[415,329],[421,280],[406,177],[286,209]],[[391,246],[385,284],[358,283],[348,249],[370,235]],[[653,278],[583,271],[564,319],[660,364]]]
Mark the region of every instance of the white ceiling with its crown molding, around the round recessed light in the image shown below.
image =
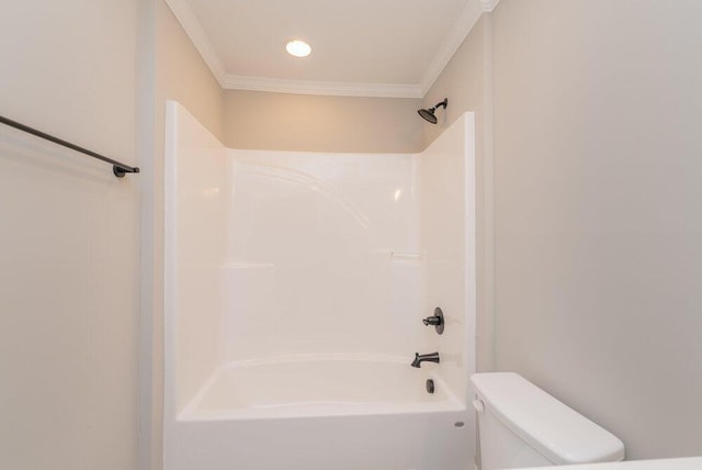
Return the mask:
[[[499,0],[166,1],[223,88],[421,98]]]

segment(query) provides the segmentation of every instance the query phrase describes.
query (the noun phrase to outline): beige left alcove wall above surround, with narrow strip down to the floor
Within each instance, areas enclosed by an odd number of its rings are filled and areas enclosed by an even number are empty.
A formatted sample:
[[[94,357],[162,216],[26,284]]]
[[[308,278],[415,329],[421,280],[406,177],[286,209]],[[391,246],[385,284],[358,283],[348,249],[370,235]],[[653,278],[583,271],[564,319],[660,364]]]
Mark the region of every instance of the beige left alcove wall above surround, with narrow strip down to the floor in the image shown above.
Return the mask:
[[[192,42],[163,0],[149,1],[146,33],[150,47],[152,92],[151,131],[147,146],[152,156],[145,161],[148,180],[143,206],[143,326],[140,349],[143,468],[162,467],[163,406],[163,155],[166,101],[176,100],[224,139],[223,91]],[[149,26],[147,26],[148,29]],[[148,60],[147,60],[148,61]],[[150,358],[150,361],[149,361]],[[150,466],[150,467],[149,467]]]

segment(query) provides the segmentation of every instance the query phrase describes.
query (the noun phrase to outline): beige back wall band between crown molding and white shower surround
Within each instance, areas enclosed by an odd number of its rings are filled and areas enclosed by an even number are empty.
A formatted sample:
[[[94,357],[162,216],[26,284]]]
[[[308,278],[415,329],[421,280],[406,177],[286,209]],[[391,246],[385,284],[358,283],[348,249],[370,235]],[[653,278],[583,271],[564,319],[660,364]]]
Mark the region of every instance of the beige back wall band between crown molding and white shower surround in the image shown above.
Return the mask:
[[[415,153],[423,148],[420,100],[227,90],[230,148]]]

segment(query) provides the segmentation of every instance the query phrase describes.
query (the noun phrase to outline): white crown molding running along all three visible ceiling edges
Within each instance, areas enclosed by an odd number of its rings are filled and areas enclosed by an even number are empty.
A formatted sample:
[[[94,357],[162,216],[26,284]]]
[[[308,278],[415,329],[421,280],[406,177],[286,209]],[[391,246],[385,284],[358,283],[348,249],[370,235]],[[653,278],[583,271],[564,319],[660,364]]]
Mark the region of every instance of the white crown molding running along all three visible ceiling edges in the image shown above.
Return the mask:
[[[485,12],[500,0],[471,0],[463,10],[419,83],[355,83],[338,81],[286,80],[228,74],[188,0],[166,0],[178,22],[193,42],[219,86],[225,90],[321,94],[369,98],[423,98]]]

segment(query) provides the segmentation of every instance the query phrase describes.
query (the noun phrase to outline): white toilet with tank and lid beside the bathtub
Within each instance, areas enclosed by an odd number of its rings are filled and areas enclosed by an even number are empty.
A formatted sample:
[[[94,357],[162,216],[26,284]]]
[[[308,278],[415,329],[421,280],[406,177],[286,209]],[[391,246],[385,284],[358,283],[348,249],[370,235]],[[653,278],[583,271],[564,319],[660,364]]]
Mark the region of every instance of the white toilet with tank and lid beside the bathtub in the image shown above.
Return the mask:
[[[624,444],[512,372],[471,377],[477,399],[482,470],[609,462]]]

